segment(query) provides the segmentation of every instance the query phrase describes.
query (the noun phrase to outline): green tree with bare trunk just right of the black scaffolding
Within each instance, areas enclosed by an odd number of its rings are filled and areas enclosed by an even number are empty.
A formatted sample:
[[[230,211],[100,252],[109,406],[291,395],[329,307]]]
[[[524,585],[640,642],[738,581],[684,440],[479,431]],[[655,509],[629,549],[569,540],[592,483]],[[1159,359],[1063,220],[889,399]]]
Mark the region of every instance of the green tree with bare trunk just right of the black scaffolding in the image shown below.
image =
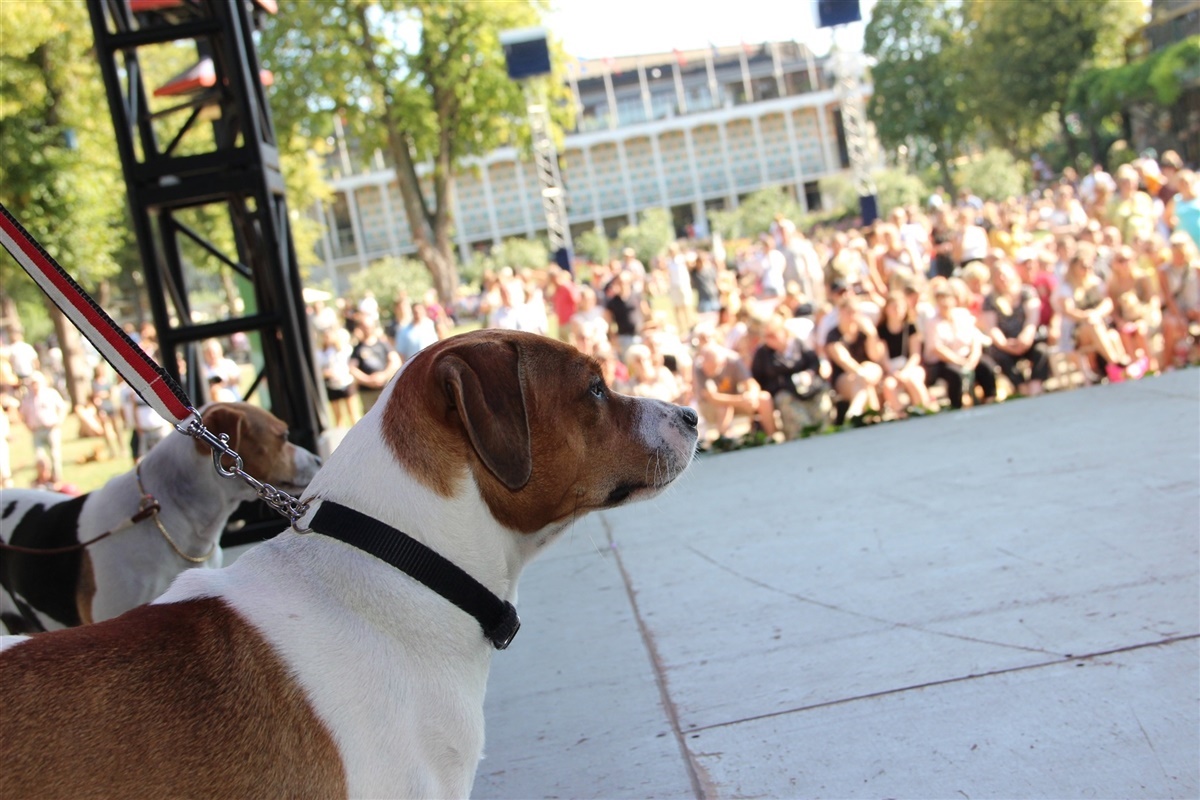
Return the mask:
[[[344,118],[362,154],[396,169],[416,247],[443,301],[457,284],[451,198],[463,158],[518,140],[522,86],[509,79],[499,34],[536,25],[540,0],[284,0],[264,31],[280,125],[308,136]],[[559,62],[562,60],[559,59]],[[560,76],[534,79],[552,113],[570,115]],[[421,175],[420,166],[428,164]]]

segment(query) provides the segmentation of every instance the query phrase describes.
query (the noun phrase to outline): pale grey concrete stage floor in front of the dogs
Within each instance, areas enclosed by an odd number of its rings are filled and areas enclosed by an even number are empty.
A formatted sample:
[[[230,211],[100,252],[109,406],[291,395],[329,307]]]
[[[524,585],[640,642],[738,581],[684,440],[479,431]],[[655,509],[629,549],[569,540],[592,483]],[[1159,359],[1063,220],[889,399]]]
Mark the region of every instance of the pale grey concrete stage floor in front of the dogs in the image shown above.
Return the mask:
[[[526,572],[476,798],[1200,796],[1200,371],[720,456]]]

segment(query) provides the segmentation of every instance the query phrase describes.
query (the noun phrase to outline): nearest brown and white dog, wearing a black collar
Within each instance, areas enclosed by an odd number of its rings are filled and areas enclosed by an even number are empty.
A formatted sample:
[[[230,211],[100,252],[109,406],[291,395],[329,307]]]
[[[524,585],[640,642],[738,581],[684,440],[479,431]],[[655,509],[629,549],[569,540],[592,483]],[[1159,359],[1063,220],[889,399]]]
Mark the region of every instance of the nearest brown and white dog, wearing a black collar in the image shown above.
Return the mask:
[[[500,599],[588,511],[662,491],[691,409],[600,365],[478,331],[412,359],[308,487],[437,551]],[[469,614],[317,533],[284,533],[155,604],[0,655],[10,796],[467,796],[492,645]]]

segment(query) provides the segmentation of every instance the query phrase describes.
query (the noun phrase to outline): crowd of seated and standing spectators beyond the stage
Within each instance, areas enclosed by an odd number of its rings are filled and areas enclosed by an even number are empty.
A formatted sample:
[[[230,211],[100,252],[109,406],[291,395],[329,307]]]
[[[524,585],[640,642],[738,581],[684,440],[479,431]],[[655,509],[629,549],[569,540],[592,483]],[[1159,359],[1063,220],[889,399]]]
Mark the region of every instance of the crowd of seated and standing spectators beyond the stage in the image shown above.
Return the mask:
[[[626,248],[574,273],[505,266],[466,306],[478,324],[571,343],[617,391],[696,408],[714,447],[733,446],[734,431],[750,444],[796,439],[1196,361],[1198,191],[1176,154],[1144,155],[1112,174],[1067,169],[1025,197],[938,188],[868,225],[806,234],[776,215],[752,241],[680,240],[649,264]],[[467,321],[432,290],[390,300],[390,314],[371,293],[308,308],[336,426]],[[133,335],[154,353],[146,327]],[[221,343],[202,355],[206,399],[239,399]],[[23,421],[37,482],[55,486],[70,409],[43,369],[19,335],[0,349],[0,433]],[[114,455],[128,432],[136,458],[166,427],[109,375],[97,366],[74,410]],[[6,458],[0,470],[10,485]]]

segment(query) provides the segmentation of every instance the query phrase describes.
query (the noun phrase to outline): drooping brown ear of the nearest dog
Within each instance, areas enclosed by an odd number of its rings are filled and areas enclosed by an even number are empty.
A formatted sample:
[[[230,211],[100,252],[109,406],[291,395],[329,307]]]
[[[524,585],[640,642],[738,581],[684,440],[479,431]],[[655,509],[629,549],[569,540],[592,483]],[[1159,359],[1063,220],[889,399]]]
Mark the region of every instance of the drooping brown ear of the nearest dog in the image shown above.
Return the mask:
[[[436,378],[488,471],[512,491],[528,483],[533,444],[516,348],[503,342],[456,348],[438,361]]]

